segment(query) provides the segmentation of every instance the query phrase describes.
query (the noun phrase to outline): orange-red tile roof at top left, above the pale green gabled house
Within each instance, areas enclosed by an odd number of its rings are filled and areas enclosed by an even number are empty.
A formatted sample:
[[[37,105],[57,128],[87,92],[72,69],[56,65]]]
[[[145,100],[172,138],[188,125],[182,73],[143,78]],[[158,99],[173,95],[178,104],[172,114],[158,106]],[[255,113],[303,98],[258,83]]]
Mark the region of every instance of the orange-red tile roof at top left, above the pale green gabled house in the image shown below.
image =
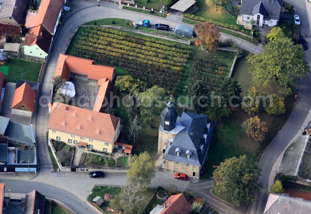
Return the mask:
[[[26,18],[25,27],[37,27],[42,24],[50,34],[53,34],[54,27],[57,24],[56,21],[63,4],[63,0],[42,0],[38,13],[34,16],[28,16]]]

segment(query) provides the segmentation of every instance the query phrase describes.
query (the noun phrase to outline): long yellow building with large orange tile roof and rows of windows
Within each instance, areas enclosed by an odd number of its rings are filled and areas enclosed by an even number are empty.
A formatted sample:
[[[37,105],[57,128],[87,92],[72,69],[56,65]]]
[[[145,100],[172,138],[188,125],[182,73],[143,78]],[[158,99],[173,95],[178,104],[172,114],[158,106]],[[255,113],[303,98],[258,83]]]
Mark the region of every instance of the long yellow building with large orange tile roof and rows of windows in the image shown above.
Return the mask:
[[[51,139],[112,153],[119,134],[118,117],[61,102],[53,103],[49,119]]]

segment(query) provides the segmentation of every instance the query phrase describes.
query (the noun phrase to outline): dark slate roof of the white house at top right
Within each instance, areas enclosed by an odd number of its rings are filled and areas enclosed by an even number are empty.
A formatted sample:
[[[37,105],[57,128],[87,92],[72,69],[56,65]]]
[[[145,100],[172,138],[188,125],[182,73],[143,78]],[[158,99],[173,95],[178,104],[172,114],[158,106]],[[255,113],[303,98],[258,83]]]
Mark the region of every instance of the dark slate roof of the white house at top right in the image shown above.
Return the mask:
[[[282,3],[283,0],[242,0],[240,14],[253,16],[254,12],[260,12],[260,14],[268,16],[270,19],[279,20]]]

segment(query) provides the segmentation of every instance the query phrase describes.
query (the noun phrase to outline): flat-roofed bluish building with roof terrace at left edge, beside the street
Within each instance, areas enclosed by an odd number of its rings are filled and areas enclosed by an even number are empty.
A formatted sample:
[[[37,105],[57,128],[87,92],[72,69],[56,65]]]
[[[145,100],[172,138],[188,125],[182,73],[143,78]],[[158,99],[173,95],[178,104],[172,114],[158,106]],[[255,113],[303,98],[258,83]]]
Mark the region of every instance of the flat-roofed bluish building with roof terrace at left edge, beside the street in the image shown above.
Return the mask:
[[[12,144],[12,143],[11,143]],[[36,172],[36,149],[10,145],[8,137],[0,136],[0,172]]]

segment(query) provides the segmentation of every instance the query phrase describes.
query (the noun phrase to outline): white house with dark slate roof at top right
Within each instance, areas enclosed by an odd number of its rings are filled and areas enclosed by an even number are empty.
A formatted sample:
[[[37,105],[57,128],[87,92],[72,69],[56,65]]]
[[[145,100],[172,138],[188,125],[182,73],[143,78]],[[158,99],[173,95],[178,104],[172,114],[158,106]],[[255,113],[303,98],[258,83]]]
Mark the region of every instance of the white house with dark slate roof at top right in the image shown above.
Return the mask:
[[[242,20],[254,20],[254,25],[275,26],[278,24],[283,0],[242,0]]]

